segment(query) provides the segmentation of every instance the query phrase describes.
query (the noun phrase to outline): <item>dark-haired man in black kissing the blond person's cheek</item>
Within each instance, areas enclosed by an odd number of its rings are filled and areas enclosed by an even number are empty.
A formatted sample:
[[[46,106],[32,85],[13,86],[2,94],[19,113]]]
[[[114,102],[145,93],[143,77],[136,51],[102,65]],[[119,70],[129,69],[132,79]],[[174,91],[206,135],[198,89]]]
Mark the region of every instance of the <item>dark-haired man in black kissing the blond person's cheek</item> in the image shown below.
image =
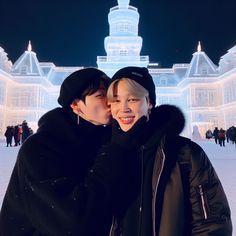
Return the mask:
[[[108,81],[95,68],[64,80],[62,108],[41,117],[18,153],[0,213],[1,236],[107,234],[109,201],[89,172],[110,135]]]

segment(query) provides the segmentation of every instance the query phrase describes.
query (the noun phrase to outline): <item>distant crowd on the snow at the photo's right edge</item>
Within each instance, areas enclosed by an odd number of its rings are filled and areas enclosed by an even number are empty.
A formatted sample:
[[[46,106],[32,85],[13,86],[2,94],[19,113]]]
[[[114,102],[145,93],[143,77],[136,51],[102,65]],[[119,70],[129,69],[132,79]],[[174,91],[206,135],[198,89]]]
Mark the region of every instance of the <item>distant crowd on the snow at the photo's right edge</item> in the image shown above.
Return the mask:
[[[225,140],[227,143],[236,143],[236,127],[231,126],[227,130],[222,128],[218,129],[215,127],[213,132],[209,129],[206,132],[206,138],[211,139],[214,138],[215,143],[219,144],[221,147],[225,147]]]

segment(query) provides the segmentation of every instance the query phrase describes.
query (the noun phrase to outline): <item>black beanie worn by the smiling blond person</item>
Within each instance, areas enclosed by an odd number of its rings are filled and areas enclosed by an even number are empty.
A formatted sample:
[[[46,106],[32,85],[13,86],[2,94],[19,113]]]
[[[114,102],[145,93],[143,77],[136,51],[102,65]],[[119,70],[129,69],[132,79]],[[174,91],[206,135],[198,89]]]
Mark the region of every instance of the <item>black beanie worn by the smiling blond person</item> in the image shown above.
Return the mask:
[[[111,79],[111,83],[122,78],[132,79],[149,93],[150,103],[155,107],[156,105],[156,88],[152,76],[145,67],[128,66],[118,70]]]

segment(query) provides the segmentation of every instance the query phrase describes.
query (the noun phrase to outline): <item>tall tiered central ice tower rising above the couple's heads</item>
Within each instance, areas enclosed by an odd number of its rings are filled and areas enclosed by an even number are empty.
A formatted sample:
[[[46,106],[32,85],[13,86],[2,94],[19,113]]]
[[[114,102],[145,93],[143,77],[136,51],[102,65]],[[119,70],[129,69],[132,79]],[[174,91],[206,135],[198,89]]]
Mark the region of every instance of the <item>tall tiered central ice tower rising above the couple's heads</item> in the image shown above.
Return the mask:
[[[108,14],[109,36],[104,40],[107,56],[98,56],[98,68],[113,75],[125,66],[147,67],[148,56],[140,56],[142,38],[138,36],[139,13],[129,0],[118,0]]]

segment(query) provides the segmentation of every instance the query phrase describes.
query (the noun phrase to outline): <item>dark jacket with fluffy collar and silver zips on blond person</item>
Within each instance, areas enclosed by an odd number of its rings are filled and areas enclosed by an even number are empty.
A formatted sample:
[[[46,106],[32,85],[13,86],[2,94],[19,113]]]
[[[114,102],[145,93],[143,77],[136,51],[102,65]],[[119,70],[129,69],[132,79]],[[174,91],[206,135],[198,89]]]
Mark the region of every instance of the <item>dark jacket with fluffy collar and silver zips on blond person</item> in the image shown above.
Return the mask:
[[[136,158],[141,178],[117,194],[110,235],[232,235],[229,205],[211,162],[199,145],[178,136],[184,127],[181,111],[160,106],[150,126],[150,137]],[[109,147],[106,151],[107,158],[119,155]]]

